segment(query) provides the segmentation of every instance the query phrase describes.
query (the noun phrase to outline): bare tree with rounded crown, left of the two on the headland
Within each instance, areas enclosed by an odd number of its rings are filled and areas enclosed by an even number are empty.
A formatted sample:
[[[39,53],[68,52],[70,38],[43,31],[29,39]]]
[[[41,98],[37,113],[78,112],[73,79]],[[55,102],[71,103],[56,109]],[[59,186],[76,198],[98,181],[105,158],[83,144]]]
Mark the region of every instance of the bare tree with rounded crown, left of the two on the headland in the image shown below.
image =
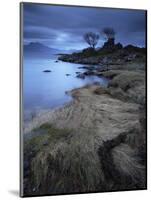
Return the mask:
[[[90,45],[90,47],[95,48],[98,43],[99,35],[93,32],[88,32],[84,34],[84,40]]]

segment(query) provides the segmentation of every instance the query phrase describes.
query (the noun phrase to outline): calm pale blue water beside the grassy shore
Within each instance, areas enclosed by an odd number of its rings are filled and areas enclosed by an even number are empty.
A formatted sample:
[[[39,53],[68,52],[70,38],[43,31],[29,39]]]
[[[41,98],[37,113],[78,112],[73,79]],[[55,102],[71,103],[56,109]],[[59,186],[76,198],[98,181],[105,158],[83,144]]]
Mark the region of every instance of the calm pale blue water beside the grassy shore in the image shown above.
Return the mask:
[[[107,79],[97,76],[87,76],[85,79],[76,77],[76,72],[84,65],[66,62],[55,62],[56,56],[49,59],[24,59],[23,63],[23,102],[25,118],[33,112],[56,108],[71,101],[66,91],[100,82],[107,85]],[[43,70],[51,70],[44,73]],[[70,74],[67,76],[66,74]]]

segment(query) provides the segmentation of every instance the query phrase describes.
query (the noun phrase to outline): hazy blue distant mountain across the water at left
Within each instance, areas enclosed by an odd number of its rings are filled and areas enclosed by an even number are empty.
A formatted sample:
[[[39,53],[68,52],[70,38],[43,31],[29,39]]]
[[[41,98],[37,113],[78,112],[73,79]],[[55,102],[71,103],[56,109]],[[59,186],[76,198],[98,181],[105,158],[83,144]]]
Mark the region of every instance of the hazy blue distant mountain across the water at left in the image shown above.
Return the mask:
[[[40,42],[31,42],[27,45],[24,45],[24,55],[31,57],[31,58],[48,58],[54,54],[60,54],[60,53],[72,53],[75,50],[59,50],[50,48]]]

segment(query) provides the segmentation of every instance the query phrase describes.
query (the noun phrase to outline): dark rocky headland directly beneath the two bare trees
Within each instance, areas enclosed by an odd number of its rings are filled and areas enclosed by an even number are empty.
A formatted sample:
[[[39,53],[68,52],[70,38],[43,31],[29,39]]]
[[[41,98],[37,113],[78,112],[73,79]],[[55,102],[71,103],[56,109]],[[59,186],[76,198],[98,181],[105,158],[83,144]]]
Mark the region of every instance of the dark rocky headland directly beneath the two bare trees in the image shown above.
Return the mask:
[[[121,65],[126,62],[141,59],[145,61],[146,49],[132,45],[117,48],[116,45],[112,49],[100,48],[95,50],[92,48],[84,49],[79,53],[62,54],[58,60],[71,63],[88,64],[88,65]]]

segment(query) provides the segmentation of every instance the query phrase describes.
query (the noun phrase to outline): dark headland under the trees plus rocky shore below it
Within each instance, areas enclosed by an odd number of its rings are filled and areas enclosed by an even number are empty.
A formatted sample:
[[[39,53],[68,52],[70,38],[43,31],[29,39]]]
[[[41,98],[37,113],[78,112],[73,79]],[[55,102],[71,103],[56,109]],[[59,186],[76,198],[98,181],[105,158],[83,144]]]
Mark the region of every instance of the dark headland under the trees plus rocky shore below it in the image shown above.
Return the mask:
[[[77,78],[84,79],[90,75],[100,76],[102,72],[109,70],[145,70],[146,49],[132,45],[122,47],[117,44],[112,49],[88,48],[79,53],[62,54],[58,60],[84,64],[82,68],[86,71],[77,72]]]

